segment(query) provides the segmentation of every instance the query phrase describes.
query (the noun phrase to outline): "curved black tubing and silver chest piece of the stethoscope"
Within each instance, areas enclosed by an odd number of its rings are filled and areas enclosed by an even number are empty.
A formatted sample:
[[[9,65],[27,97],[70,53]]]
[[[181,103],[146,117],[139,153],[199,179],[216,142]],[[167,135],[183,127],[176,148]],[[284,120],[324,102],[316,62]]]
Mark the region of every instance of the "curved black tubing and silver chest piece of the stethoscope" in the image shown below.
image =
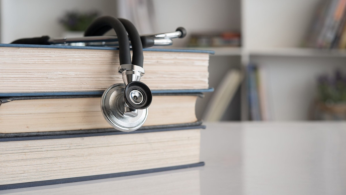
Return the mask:
[[[113,28],[119,41],[119,74],[124,84],[114,84],[104,91],[101,110],[104,119],[114,128],[123,132],[134,131],[144,124],[152,93],[147,85],[140,82],[144,75],[143,46],[135,26],[128,20],[104,16],[96,19],[85,31],[85,36],[99,36]],[[128,36],[126,35],[126,31]],[[133,57],[130,58],[130,38]]]

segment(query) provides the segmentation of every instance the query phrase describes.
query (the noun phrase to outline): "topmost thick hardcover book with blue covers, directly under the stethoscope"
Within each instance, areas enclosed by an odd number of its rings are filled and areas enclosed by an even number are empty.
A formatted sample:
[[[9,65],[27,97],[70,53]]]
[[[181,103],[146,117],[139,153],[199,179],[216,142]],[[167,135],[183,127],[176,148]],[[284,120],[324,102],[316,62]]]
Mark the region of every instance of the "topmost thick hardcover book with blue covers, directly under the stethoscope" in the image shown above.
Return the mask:
[[[212,51],[143,50],[145,75],[141,81],[151,90],[209,88]],[[117,48],[0,44],[0,61],[1,96],[100,92],[115,83],[123,83],[118,73]]]

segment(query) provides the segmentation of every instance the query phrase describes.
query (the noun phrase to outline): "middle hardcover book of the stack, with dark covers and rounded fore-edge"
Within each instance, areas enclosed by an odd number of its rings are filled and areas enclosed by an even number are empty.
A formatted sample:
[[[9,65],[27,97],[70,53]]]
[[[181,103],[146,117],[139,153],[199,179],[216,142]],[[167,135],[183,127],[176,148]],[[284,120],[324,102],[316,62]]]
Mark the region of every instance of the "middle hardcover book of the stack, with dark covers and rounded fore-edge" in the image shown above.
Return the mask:
[[[199,124],[195,104],[202,96],[153,93],[142,128]],[[100,102],[101,95],[0,97],[0,137],[114,131],[102,116]]]

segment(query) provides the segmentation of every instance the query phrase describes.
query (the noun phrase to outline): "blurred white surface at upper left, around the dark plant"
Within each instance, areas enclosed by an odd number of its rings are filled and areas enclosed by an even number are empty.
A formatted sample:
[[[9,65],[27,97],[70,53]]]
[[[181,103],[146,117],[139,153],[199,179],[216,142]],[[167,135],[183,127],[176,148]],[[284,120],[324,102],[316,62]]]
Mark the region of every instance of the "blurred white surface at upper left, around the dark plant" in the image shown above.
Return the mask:
[[[66,11],[99,10],[102,15],[117,14],[116,1],[112,0],[1,0],[0,7],[1,43],[42,35],[61,37],[64,28],[58,19]]]

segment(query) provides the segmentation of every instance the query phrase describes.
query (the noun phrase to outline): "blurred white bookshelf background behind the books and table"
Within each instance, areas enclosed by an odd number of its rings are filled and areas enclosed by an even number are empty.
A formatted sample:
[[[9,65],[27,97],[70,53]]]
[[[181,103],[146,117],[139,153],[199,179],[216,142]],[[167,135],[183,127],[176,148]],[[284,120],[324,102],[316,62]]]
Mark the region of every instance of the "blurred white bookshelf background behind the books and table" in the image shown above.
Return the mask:
[[[0,42],[82,36],[98,16],[140,34],[186,28],[175,48],[214,50],[196,115],[217,120],[345,120],[346,0],[0,0]],[[222,109],[216,109],[220,108]]]

